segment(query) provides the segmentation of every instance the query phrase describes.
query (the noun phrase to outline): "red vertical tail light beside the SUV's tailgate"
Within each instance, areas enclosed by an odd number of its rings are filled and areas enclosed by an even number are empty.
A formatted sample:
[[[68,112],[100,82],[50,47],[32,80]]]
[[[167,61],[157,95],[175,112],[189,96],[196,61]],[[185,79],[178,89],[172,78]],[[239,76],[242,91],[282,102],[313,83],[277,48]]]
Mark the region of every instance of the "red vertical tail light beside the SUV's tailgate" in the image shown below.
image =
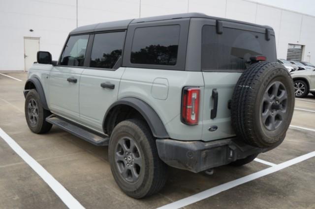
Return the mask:
[[[182,122],[197,125],[199,115],[200,88],[185,87],[182,97]]]

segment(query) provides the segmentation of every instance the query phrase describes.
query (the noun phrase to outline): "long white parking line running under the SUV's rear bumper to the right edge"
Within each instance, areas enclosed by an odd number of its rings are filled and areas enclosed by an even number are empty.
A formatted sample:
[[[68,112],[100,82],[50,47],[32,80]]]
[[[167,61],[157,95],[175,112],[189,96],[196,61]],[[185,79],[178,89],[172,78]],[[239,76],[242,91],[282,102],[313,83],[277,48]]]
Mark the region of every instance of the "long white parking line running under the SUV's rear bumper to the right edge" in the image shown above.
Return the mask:
[[[264,170],[258,171],[256,173],[250,174],[248,176],[242,177],[240,179],[236,179],[236,180],[228,182],[228,183],[223,183],[219,186],[215,186],[215,187],[207,189],[203,192],[200,192],[200,193],[197,193],[195,195],[189,196],[187,198],[181,199],[179,201],[167,204],[167,205],[162,206],[158,209],[178,209],[178,208],[188,206],[188,205],[193,204],[195,202],[198,202],[200,200],[203,200],[203,199],[206,199],[208,197],[219,194],[222,191],[228,190],[228,189],[233,188],[235,186],[250,182],[252,180],[258,179],[260,177],[266,176],[266,175],[271,174],[271,173],[275,173],[275,172],[280,171],[284,168],[287,168],[291,165],[294,165],[294,164],[297,164],[297,163],[302,162],[304,160],[307,160],[311,157],[315,157],[315,151],[308,153],[306,155],[300,156],[300,157],[290,159],[290,160],[285,161],[283,163],[280,163],[278,165],[275,165],[275,166],[266,168]]]

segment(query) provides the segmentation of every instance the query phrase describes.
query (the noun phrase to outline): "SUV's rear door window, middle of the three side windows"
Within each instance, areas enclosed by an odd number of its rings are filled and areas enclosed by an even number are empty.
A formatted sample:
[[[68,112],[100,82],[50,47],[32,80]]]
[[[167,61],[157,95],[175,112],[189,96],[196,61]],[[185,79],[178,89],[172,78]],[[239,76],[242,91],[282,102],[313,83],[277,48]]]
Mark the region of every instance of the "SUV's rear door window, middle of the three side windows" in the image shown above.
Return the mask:
[[[122,55],[125,31],[95,34],[90,67],[113,68]]]

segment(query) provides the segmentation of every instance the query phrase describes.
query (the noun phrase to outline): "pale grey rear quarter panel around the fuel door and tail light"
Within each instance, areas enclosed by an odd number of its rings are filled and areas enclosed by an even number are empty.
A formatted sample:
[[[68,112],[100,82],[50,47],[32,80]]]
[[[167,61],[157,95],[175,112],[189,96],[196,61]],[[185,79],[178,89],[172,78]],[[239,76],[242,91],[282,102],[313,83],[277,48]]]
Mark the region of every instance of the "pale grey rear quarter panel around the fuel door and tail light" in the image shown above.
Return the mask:
[[[156,78],[168,80],[168,93],[165,100],[156,99],[152,95],[152,88]],[[118,99],[135,97],[149,104],[158,114],[165,125],[170,138],[180,140],[200,140],[202,132],[202,114],[199,124],[188,126],[181,122],[182,89],[184,86],[199,86],[203,95],[203,78],[201,72],[187,72],[174,70],[158,70],[143,68],[126,68],[122,77]],[[165,94],[164,88],[156,88]],[[157,92],[155,91],[155,94]],[[200,109],[202,109],[202,98]],[[200,111],[201,113],[201,111]]]

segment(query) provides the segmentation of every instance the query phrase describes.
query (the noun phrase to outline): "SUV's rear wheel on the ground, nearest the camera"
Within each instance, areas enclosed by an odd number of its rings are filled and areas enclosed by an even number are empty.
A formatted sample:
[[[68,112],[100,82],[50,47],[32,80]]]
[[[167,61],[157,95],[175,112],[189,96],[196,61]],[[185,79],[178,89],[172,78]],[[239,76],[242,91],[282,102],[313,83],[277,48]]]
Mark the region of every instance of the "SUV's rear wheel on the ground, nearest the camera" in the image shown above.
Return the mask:
[[[128,196],[148,197],[164,186],[167,167],[158,157],[155,138],[143,121],[119,123],[111,134],[108,150],[114,179]]]

